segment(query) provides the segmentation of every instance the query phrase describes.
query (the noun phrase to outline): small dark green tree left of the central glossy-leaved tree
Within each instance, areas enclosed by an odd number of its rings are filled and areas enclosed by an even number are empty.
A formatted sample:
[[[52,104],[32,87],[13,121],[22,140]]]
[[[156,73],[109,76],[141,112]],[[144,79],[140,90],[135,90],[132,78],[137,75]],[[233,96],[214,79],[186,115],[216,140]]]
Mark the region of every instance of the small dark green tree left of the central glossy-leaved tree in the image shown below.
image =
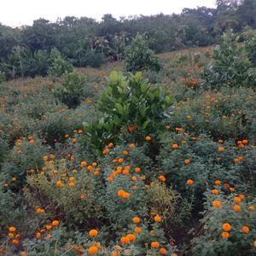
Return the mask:
[[[54,91],[55,97],[66,104],[67,108],[76,108],[83,96],[84,78],[75,71],[66,71],[61,80],[61,87]]]

